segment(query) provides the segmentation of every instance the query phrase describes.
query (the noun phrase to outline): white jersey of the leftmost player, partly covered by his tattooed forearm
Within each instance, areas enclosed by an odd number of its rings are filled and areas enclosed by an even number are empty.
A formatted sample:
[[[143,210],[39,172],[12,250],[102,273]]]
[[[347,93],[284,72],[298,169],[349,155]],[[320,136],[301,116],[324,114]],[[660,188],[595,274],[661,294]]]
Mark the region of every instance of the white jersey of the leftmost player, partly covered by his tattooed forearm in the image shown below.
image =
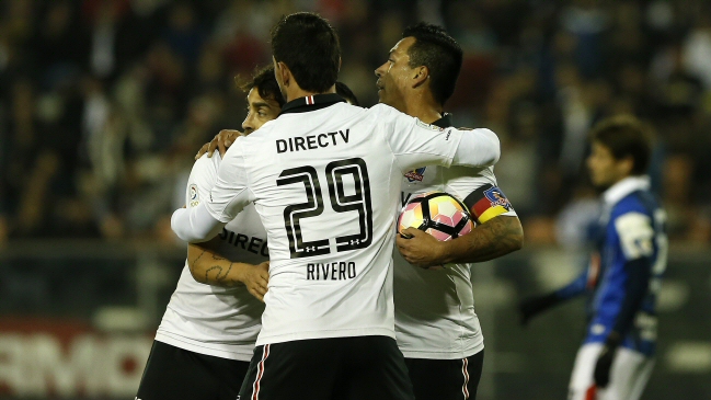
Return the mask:
[[[187,182],[188,208],[209,198],[219,164],[217,152],[195,161]],[[219,238],[216,252],[228,260],[250,264],[268,260],[266,231],[253,205],[228,222]],[[186,262],[156,340],[195,353],[250,361],[263,311],[264,304],[245,286],[222,288],[198,283]]]

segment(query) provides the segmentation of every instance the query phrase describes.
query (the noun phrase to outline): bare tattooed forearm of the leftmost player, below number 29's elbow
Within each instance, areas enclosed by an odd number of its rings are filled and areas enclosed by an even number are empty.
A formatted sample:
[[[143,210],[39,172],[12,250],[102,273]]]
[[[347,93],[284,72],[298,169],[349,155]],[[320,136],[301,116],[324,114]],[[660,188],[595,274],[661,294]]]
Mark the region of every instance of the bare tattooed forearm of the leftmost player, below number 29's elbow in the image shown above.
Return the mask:
[[[264,301],[270,281],[270,262],[259,265],[228,260],[215,248],[219,238],[187,245],[187,266],[195,281],[214,286],[234,287],[243,284],[259,300]]]

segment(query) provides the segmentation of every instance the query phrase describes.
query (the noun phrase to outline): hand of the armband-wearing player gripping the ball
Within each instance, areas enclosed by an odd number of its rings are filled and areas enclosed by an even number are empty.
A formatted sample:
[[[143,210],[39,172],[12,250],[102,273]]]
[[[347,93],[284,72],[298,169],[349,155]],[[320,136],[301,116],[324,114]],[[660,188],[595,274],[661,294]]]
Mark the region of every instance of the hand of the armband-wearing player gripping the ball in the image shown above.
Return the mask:
[[[429,233],[408,228],[397,236],[395,244],[410,264],[422,268],[441,267],[444,244]]]

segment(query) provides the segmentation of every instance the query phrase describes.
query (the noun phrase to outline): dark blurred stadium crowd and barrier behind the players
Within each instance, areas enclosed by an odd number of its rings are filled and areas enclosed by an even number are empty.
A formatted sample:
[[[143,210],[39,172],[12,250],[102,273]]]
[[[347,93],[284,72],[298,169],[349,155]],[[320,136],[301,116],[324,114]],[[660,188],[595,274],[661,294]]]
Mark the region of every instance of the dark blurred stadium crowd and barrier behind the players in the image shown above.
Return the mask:
[[[525,250],[474,267],[480,399],[563,399],[584,331],[575,301],[518,325],[515,305],[575,275],[595,207],[583,160],[601,117],[657,130],[651,174],[672,253],[644,399],[711,399],[711,4],[703,0],[0,1],[0,398],[133,398],[183,266],[170,230],[199,146],[238,128],[233,83],[270,61],[282,14],[341,33],[346,82],[403,27],[465,49],[446,108],[502,140],[500,185]]]

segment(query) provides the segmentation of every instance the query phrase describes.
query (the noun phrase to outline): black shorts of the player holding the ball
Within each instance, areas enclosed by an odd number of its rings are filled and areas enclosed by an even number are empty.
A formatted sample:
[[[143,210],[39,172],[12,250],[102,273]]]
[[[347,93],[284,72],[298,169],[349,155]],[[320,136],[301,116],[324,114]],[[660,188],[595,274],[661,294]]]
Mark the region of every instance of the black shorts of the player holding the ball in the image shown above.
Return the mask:
[[[473,400],[484,351],[458,359],[405,358],[417,400]]]

